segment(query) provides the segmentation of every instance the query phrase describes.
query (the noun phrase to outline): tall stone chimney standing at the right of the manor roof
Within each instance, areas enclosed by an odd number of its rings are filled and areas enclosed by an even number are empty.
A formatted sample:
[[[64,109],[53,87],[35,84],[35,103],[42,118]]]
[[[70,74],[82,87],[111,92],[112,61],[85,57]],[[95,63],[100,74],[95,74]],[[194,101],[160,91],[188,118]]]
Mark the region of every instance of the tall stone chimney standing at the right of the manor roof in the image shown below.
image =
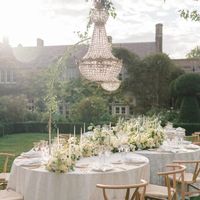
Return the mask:
[[[163,52],[163,25],[156,24],[156,52]]]

